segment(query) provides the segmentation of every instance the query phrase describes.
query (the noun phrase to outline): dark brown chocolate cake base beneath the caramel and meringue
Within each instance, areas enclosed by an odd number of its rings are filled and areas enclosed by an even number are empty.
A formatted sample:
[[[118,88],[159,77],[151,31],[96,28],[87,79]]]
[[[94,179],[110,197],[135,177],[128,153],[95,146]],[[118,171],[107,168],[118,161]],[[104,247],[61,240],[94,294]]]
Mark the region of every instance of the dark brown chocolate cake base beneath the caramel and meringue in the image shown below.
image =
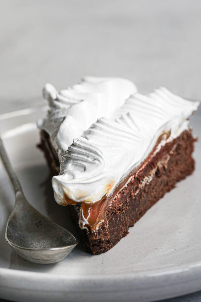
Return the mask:
[[[179,137],[166,143],[150,156],[106,207],[104,219],[97,229],[91,230],[88,227],[81,230],[78,225],[80,204],[68,206],[78,226],[84,249],[94,254],[111,249],[128,234],[130,226],[133,226],[166,192],[174,188],[176,182],[191,174],[194,170],[191,155],[195,140],[192,131],[185,130]],[[44,151],[52,173],[57,175],[59,173],[57,153],[44,130],[41,131],[39,147]]]

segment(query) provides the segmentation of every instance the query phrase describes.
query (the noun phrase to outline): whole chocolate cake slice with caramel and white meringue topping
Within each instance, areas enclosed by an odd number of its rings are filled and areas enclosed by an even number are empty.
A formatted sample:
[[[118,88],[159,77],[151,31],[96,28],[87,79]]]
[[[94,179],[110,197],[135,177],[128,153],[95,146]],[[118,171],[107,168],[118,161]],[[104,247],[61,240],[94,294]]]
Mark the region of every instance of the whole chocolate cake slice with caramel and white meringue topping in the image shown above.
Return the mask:
[[[166,88],[141,95],[119,78],[86,77],[60,92],[46,84],[43,93],[40,148],[55,200],[69,205],[85,249],[106,252],[193,172],[188,118],[199,103]]]

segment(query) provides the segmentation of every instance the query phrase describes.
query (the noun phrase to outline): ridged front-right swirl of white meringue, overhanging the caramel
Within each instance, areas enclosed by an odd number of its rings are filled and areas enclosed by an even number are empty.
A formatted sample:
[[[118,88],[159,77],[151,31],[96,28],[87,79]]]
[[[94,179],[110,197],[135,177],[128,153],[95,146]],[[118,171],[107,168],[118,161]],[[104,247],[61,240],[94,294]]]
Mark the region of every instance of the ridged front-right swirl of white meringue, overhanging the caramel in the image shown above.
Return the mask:
[[[170,133],[168,141],[179,136],[199,106],[199,102],[184,100],[163,87],[149,95],[135,93],[126,101],[112,103],[113,108],[108,106],[112,111],[109,118],[102,115],[63,151],[60,174],[52,178],[59,204],[72,200],[96,203],[109,198],[116,186],[146,159],[159,136]]]

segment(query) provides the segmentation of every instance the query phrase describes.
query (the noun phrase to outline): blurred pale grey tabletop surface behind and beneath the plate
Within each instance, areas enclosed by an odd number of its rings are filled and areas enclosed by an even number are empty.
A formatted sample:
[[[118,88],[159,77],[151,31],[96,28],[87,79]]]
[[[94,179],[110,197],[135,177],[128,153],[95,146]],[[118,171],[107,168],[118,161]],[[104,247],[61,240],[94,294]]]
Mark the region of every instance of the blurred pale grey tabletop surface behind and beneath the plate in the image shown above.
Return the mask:
[[[38,104],[46,82],[62,89],[84,75],[200,99],[200,34],[199,0],[1,1],[0,113]]]

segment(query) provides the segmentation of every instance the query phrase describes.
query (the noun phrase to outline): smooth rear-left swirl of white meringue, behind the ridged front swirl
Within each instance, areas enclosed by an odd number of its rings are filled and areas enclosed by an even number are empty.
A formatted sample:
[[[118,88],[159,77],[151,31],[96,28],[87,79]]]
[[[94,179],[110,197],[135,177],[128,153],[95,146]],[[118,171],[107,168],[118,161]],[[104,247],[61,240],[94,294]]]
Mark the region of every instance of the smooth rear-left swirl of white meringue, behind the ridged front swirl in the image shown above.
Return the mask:
[[[49,112],[37,125],[49,134],[61,161],[73,140],[84,134],[99,117],[111,118],[115,108],[137,92],[131,81],[121,78],[85,77],[79,84],[58,92],[47,83],[43,96],[49,101]]]

